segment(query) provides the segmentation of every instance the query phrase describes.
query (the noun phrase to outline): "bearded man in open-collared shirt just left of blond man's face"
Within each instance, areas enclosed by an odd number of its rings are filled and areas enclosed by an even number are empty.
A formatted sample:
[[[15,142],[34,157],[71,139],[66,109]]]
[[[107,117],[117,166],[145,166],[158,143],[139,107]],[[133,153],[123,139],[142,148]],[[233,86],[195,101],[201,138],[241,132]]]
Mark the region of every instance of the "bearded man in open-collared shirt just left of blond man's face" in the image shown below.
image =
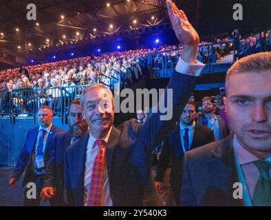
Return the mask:
[[[226,123],[220,115],[215,114],[215,104],[212,98],[206,96],[202,99],[203,113],[199,114],[198,122],[204,126],[208,126],[215,134],[215,140],[221,140],[230,134]]]

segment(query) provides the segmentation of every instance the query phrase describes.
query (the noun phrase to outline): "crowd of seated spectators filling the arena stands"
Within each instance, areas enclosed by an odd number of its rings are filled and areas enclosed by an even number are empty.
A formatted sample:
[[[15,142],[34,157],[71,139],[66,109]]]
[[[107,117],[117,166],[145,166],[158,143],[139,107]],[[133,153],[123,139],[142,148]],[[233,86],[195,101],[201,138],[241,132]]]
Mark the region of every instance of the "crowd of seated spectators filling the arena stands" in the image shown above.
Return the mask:
[[[202,63],[217,63],[222,57],[232,54],[236,49],[235,35],[234,31],[232,36],[225,39],[202,41],[199,43],[197,60]],[[269,51],[271,48],[270,31],[251,34],[245,38],[241,38],[238,33],[237,37],[239,58]],[[147,69],[173,69],[181,51],[182,45],[163,45],[153,49],[129,50],[3,70],[0,72],[1,107],[5,109],[11,97],[9,92],[14,91],[12,103],[20,111],[31,111],[34,108],[34,98],[38,98],[39,106],[56,105],[56,109],[59,109],[61,93],[74,98],[74,88],[70,87],[103,83],[113,90],[117,83],[118,89],[123,89],[138,80]],[[69,88],[61,91],[57,87]],[[18,91],[25,89],[37,89],[37,97],[33,97],[31,93],[24,95],[28,97],[21,97],[23,95]],[[39,91],[41,89],[47,91]]]

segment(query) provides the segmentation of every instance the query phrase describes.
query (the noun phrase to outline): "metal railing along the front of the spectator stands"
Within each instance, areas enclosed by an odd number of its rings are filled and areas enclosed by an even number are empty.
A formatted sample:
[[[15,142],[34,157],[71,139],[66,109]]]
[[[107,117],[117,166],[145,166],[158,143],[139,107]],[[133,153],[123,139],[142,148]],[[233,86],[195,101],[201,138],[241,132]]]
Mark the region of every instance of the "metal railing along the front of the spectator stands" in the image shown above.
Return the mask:
[[[148,54],[145,58],[141,57],[135,65],[122,66],[119,71],[111,69],[110,77],[99,74],[92,83],[100,82],[107,85],[111,91],[120,91],[138,80],[142,72],[147,69],[151,70],[151,73],[158,73],[160,77],[168,77],[169,72],[172,72],[177,64],[181,51],[182,48]],[[237,58],[263,51],[271,51],[271,36],[264,41],[258,39],[253,43],[240,43],[238,47],[235,47],[231,41],[201,45],[198,49],[197,60],[210,67],[221,63],[233,63]],[[9,115],[11,118],[14,115],[32,115],[35,118],[37,109],[46,104],[52,108],[55,115],[65,120],[69,102],[74,98],[79,98],[87,85],[2,91],[0,92],[0,115]]]

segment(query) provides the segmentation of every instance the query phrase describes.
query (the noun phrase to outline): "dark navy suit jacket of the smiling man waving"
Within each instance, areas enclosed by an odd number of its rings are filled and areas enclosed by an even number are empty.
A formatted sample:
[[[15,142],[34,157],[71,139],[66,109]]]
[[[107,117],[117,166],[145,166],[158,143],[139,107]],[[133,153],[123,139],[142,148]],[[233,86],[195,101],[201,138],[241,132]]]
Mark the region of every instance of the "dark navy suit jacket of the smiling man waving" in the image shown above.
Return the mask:
[[[113,206],[142,206],[142,199],[150,176],[151,151],[175,127],[175,123],[195,86],[196,77],[173,73],[165,91],[173,89],[171,120],[160,120],[159,111],[149,116],[144,124],[132,119],[112,127],[106,150],[109,188]],[[178,83],[176,83],[178,82]],[[168,100],[165,100],[167,106]],[[89,133],[67,148],[64,182],[67,201],[72,206],[83,206],[85,159]]]

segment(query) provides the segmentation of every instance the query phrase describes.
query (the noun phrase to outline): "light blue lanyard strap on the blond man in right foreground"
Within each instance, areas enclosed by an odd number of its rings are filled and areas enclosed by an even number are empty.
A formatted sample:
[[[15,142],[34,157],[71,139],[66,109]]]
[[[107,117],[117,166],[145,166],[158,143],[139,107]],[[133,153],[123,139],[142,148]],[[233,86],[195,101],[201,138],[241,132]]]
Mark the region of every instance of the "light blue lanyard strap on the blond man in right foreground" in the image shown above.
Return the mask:
[[[245,176],[243,175],[243,170],[241,168],[241,165],[239,164],[239,159],[237,157],[237,154],[235,153],[235,148],[233,147],[233,153],[235,155],[235,164],[237,168],[237,174],[239,181],[241,181],[241,184],[243,186],[243,203],[245,206],[253,206],[252,201],[250,198],[250,192],[248,190],[248,185],[246,184],[246,179]]]

